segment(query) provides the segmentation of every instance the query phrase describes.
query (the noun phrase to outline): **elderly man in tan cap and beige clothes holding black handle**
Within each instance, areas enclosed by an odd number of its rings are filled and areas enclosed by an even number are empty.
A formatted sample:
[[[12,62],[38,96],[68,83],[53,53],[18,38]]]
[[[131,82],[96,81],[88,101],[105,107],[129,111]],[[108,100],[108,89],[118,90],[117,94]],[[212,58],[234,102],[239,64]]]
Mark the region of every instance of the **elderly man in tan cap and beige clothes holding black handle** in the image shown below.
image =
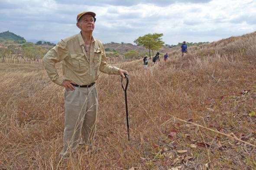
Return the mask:
[[[63,157],[69,151],[75,152],[80,139],[92,144],[96,130],[98,95],[95,81],[99,71],[107,74],[128,72],[107,64],[103,44],[92,36],[96,14],[84,11],[77,16],[77,35],[58,42],[43,57],[43,64],[52,82],[66,88],[65,129],[61,152]],[[62,61],[63,79],[58,76],[55,63]],[[82,137],[82,138],[81,138]]]

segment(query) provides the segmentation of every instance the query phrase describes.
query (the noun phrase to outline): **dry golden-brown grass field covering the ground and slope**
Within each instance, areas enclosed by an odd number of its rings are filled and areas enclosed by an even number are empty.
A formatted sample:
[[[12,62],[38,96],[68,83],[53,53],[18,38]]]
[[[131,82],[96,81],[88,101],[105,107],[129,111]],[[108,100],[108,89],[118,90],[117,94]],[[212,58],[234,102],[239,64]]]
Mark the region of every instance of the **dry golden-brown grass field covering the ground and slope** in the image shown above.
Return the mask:
[[[255,42],[256,32],[184,57],[175,50],[148,69],[142,60],[117,64],[130,73],[130,142],[120,76],[102,73],[94,146],[67,160],[64,88],[41,65],[0,64],[0,169],[256,169]]]

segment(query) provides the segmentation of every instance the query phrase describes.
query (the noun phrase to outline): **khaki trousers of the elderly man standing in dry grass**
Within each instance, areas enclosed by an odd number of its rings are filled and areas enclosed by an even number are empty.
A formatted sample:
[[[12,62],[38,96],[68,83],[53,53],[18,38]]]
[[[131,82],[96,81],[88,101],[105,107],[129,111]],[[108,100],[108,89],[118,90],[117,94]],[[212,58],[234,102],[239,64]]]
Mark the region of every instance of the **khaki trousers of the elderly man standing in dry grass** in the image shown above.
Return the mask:
[[[82,138],[85,144],[92,144],[96,130],[98,111],[98,94],[96,84],[90,88],[75,87],[66,90],[65,129],[63,136],[62,156],[75,152]]]

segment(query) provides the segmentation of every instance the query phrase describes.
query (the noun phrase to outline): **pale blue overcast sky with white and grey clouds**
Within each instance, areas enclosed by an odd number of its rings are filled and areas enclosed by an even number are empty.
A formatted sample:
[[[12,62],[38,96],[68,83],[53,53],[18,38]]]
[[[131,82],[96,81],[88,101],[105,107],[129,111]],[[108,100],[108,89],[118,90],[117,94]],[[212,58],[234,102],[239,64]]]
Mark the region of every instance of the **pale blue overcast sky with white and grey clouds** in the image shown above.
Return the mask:
[[[0,32],[59,41],[79,32],[81,11],[96,13],[93,35],[103,43],[155,32],[165,44],[217,41],[256,31],[256,0],[0,0]]]

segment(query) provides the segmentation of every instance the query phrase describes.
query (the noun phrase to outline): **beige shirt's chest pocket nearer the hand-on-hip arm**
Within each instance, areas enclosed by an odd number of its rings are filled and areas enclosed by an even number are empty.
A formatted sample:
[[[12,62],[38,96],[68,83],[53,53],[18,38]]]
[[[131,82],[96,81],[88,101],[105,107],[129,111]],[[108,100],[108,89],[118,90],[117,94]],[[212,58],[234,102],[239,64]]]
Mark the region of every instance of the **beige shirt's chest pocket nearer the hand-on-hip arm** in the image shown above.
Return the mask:
[[[76,71],[86,71],[89,69],[83,53],[70,54],[69,64]]]

